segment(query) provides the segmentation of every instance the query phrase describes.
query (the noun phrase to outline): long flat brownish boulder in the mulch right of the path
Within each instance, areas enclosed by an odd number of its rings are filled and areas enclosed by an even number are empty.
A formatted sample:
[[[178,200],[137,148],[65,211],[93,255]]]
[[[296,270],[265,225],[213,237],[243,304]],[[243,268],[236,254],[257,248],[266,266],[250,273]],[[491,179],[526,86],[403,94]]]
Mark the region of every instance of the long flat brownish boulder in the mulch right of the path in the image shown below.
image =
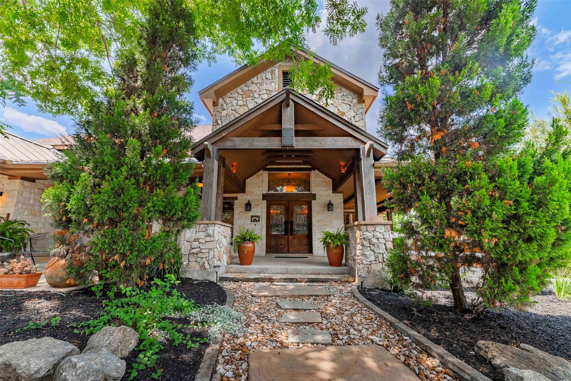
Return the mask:
[[[526,344],[512,347],[489,341],[476,343],[476,353],[488,359],[492,366],[502,370],[515,368],[544,375],[551,381],[571,381],[571,363]]]

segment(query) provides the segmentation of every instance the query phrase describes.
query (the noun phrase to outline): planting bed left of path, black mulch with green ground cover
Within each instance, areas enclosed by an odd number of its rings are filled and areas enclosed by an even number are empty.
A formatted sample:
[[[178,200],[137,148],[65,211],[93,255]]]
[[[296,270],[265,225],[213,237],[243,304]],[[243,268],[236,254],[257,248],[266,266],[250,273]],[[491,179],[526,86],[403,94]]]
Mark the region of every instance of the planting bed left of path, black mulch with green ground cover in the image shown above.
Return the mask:
[[[155,284],[156,289],[164,290],[166,285]],[[180,283],[168,283],[170,291],[176,291],[176,299],[170,299],[171,302],[177,300],[185,306],[192,304],[195,311],[200,311],[202,308],[210,308],[209,306],[216,304],[219,308],[223,308],[226,302],[226,293],[222,287],[219,287],[214,282],[199,281],[184,279]],[[139,290],[139,288],[136,288]],[[155,324],[156,318],[153,314],[150,316],[146,314],[147,318],[152,318],[153,323],[143,322],[139,316],[134,316],[134,312],[142,312],[142,305],[147,307],[148,301],[153,299],[162,291],[151,291],[151,286],[146,285],[143,287],[143,293],[138,292],[136,295],[128,296],[124,302],[118,302],[122,295],[117,295],[114,300],[108,299],[106,296],[97,297],[93,291],[83,290],[73,292],[71,294],[59,294],[57,292],[0,292],[0,304],[2,310],[0,311],[0,345],[27,340],[31,338],[41,338],[51,336],[59,340],[68,341],[83,350],[90,338],[90,334],[84,332],[85,328],[98,326],[104,316],[116,316],[112,311],[106,310],[106,306],[114,305],[119,306],[123,313],[121,317],[112,319],[108,325],[121,325],[124,322],[139,323],[139,329],[133,327],[140,332],[144,333],[144,329],[150,328],[151,324]],[[144,295],[144,296],[143,296]],[[154,295],[154,296],[152,296]],[[167,292],[167,295],[160,296],[160,299],[170,298],[172,293]],[[136,304],[136,300],[142,302],[141,305]],[[155,300],[156,301],[156,300]],[[104,304],[103,302],[107,302]],[[146,304],[147,303],[147,304]],[[160,304],[159,314],[165,312],[165,304],[158,301]],[[127,307],[128,306],[128,307]],[[152,306],[155,307],[155,304]],[[227,310],[227,308],[224,308]],[[138,315],[138,314],[137,314]],[[234,315],[232,315],[234,317]],[[130,379],[131,372],[134,370],[136,364],[145,363],[144,355],[147,351],[143,350],[145,340],[147,343],[150,339],[156,338],[159,344],[163,346],[161,350],[155,352],[156,358],[154,366],[145,364],[142,368],[137,368],[138,374],[133,378],[135,380],[150,380],[152,374],[162,373],[160,376],[163,380],[181,380],[185,378],[194,378],[195,372],[198,370],[200,361],[207,346],[210,344],[209,336],[211,330],[216,329],[216,316],[208,316],[203,314],[204,320],[195,319],[186,315],[177,316],[164,316],[163,320],[168,320],[169,324],[176,327],[175,336],[187,340],[188,335],[194,340],[190,340],[192,344],[188,348],[188,343],[181,342],[178,346],[172,345],[172,341],[167,335],[155,330],[151,333],[149,339],[142,339],[139,342],[138,348],[131,352],[127,358],[127,372],[123,380]],[[123,319],[123,320],[120,320]],[[231,323],[224,320],[226,323],[224,328],[232,327]],[[93,322],[93,323],[90,323]],[[97,322],[97,323],[95,323]],[[155,336],[156,335],[156,336]],[[152,347],[152,346],[151,346]]]

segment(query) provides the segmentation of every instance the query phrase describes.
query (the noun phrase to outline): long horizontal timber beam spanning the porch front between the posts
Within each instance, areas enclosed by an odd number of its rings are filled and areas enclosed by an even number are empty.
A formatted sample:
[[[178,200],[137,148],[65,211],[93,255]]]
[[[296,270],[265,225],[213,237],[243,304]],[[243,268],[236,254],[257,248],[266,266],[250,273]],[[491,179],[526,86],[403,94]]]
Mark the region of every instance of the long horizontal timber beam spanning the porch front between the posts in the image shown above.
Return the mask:
[[[353,137],[307,137],[297,139],[294,147],[304,150],[360,149],[363,143],[363,141]],[[215,142],[213,146],[220,150],[283,149],[282,138],[226,138]]]

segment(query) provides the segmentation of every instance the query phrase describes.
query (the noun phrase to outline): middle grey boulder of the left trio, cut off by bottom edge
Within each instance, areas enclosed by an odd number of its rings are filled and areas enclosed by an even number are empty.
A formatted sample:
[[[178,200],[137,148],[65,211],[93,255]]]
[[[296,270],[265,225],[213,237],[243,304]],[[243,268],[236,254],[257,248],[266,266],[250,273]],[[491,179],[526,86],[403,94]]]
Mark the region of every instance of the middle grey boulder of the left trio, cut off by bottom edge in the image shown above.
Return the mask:
[[[127,364],[107,350],[82,353],[63,360],[53,381],[119,381]]]

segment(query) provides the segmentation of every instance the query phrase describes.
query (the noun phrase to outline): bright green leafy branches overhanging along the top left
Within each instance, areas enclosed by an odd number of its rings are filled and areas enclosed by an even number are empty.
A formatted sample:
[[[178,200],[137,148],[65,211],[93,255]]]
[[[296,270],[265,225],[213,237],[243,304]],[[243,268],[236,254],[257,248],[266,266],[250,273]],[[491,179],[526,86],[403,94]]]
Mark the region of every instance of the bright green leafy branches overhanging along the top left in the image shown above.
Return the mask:
[[[292,54],[292,48],[307,48],[305,34],[321,24],[316,0],[194,0],[181,6],[193,25],[182,43],[195,45],[198,62],[223,54],[237,65],[292,57],[299,64],[292,69],[295,88],[332,98],[331,68]],[[90,108],[100,89],[114,82],[109,67],[144,38],[139,25],[154,7],[154,0],[2,2],[0,100],[25,95],[53,115]],[[326,7],[325,33],[333,43],[364,30],[366,8],[347,0],[330,0]]]

